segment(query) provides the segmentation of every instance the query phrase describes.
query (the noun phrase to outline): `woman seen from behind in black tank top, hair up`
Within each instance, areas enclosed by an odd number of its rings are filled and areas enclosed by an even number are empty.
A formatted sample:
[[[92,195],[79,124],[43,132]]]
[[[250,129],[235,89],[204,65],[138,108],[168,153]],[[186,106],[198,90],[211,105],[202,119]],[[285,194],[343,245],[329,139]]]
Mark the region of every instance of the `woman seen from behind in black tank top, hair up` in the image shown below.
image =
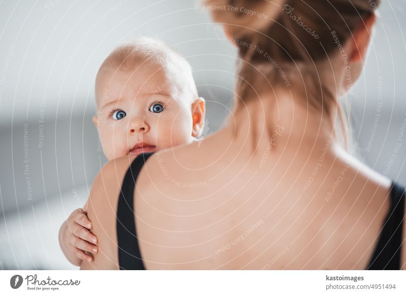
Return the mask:
[[[207,1],[239,47],[233,115],[200,144],[101,169],[81,269],[404,268],[404,188],[346,151],[338,99],[378,2]]]

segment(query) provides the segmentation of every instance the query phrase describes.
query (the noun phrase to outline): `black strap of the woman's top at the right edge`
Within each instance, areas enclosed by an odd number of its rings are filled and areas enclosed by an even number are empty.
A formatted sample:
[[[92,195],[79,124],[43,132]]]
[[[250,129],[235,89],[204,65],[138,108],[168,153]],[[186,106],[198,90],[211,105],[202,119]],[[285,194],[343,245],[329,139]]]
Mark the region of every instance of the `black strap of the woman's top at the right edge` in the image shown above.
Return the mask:
[[[390,210],[368,270],[399,270],[403,236],[404,188],[396,182],[390,191]]]

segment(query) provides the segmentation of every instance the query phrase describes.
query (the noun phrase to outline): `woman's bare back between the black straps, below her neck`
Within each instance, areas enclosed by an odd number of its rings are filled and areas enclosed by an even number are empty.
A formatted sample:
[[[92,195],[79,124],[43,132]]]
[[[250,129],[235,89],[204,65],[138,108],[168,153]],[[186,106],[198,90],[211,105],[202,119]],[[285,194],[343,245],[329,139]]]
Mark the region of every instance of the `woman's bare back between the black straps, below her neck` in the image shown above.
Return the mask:
[[[229,136],[146,163],[135,207],[147,269],[367,267],[390,181],[328,140],[293,151],[281,136],[269,153],[264,142],[252,155],[249,143]]]

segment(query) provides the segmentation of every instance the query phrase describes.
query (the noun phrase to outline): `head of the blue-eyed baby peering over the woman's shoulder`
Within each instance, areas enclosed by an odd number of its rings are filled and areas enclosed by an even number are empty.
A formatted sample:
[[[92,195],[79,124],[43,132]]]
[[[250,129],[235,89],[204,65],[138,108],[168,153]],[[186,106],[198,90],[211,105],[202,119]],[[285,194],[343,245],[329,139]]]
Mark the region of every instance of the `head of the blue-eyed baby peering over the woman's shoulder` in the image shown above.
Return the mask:
[[[191,66],[154,39],[117,47],[97,72],[95,98],[93,122],[108,160],[190,143],[204,127]]]

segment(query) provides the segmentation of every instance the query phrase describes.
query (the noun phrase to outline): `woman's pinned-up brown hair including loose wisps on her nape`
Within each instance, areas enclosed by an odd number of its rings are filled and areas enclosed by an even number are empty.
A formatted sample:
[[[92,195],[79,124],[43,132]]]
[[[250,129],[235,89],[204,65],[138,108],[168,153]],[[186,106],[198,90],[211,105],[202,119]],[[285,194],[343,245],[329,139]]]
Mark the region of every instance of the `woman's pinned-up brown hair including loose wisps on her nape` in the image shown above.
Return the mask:
[[[236,94],[243,101],[255,97],[264,81],[268,88],[289,88],[295,78],[289,77],[289,72],[294,68],[302,74],[299,79],[306,85],[307,102],[329,112],[327,106],[331,108],[332,101],[326,101],[327,96],[336,95],[326,95],[316,64],[342,52],[354,29],[374,14],[379,3],[380,0],[206,0],[205,7],[239,47],[240,80]],[[339,107],[337,101],[333,104]]]

